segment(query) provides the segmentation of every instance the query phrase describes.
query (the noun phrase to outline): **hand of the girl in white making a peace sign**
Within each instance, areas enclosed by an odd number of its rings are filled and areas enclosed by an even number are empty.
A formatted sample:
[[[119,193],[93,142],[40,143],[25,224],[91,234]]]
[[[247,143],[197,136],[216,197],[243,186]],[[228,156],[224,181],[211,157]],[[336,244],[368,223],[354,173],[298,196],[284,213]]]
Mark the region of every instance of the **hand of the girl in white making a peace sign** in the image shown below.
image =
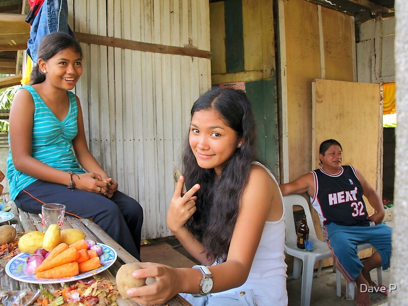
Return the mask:
[[[179,228],[184,227],[187,220],[195,213],[194,193],[200,189],[200,185],[195,184],[189,191],[182,196],[184,176],[180,176],[179,181],[174,190],[173,197],[170,202],[170,207],[167,213],[167,225],[171,232],[175,233]]]

